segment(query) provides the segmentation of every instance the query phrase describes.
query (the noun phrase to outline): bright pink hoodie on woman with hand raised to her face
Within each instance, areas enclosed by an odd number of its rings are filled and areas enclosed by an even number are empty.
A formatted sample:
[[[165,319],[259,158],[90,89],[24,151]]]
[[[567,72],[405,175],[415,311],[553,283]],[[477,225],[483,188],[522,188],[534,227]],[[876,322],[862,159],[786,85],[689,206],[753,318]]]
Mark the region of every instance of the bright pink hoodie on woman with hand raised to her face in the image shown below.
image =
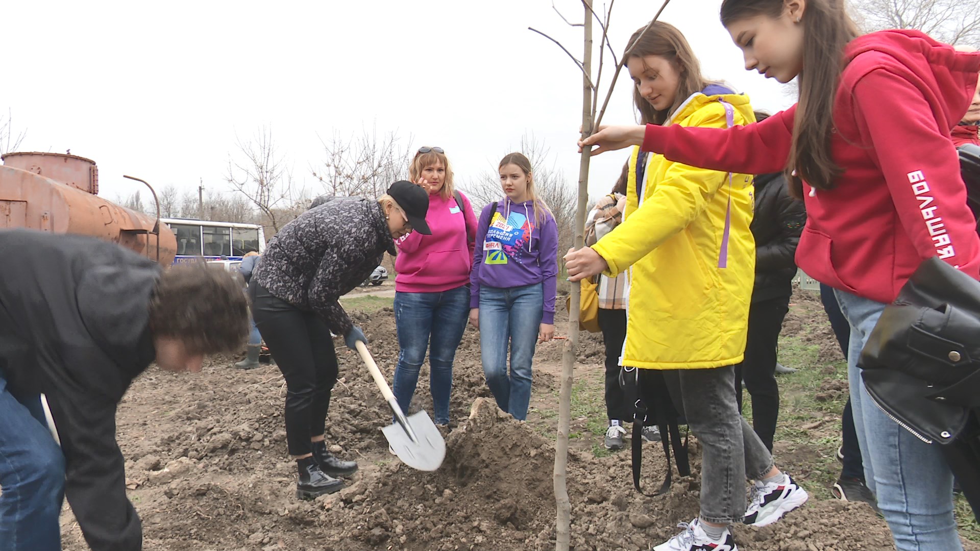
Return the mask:
[[[476,217],[466,195],[460,192],[460,196],[463,205],[457,205],[453,196],[443,199],[439,193],[430,194],[425,222],[432,234],[413,231],[395,240],[395,290],[438,293],[469,282]]]

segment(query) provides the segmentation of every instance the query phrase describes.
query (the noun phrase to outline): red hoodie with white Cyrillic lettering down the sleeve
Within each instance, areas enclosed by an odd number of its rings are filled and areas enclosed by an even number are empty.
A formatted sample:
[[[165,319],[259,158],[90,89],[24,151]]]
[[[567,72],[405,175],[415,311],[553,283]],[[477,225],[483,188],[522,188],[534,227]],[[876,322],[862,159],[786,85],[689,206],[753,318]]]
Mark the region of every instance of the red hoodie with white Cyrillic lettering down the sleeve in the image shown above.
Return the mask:
[[[980,278],[980,238],[950,136],[972,100],[980,53],[884,30],[856,38],[845,55],[831,136],[844,173],[834,189],[804,185],[797,265],[883,303],[930,257]],[[647,125],[643,149],[711,170],[774,173],[786,166],[795,113],[730,129]]]

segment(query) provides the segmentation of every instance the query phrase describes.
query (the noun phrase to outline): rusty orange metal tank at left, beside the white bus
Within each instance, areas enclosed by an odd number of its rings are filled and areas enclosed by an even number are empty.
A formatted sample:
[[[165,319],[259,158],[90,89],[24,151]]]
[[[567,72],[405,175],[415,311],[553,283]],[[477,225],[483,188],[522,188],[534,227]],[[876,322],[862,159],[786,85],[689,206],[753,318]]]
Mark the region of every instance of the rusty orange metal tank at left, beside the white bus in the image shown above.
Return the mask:
[[[160,224],[159,217],[96,195],[99,172],[94,161],[58,153],[8,153],[0,160],[0,228],[91,235],[163,266],[173,262],[176,237],[171,228]]]

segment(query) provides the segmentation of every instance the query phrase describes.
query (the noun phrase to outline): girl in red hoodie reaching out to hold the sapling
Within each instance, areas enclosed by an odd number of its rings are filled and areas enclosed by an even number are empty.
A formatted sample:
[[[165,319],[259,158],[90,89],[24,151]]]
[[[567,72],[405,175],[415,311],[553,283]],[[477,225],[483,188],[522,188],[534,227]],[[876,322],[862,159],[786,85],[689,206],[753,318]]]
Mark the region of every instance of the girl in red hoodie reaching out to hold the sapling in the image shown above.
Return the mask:
[[[721,22],[747,70],[780,82],[799,77],[800,101],[787,111],[731,129],[610,126],[579,145],[598,145],[593,154],[641,145],[733,173],[786,171],[807,204],[797,264],[835,288],[851,325],[851,399],[868,487],[898,549],[955,551],[953,476],[940,450],[874,406],[857,362],[886,303],[923,259],[938,256],[980,276],[980,239],[951,141],[977,85],[980,54],[915,30],[860,36],[842,5],[722,2]],[[589,249],[574,261],[569,274],[604,262]]]

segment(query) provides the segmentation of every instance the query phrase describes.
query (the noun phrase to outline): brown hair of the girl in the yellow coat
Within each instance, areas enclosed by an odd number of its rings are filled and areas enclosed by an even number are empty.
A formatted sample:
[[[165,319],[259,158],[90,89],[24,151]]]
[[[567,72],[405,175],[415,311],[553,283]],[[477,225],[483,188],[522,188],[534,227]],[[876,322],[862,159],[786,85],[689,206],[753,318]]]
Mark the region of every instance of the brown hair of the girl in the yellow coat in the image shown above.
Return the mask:
[[[644,32],[645,28],[646,32]],[[647,25],[641,26],[629,37],[623,55],[627,54],[630,58],[641,60],[647,56],[665,58],[680,76],[673,105],[663,111],[654,109],[654,106],[640,95],[640,88],[633,86],[633,103],[636,105],[636,110],[640,112],[640,123],[643,125],[662,125],[691,94],[700,92],[709,84],[701,75],[701,63],[694,56],[687,38],[684,38],[674,25],[658,21],[650,25],[650,28],[647,28]]]

